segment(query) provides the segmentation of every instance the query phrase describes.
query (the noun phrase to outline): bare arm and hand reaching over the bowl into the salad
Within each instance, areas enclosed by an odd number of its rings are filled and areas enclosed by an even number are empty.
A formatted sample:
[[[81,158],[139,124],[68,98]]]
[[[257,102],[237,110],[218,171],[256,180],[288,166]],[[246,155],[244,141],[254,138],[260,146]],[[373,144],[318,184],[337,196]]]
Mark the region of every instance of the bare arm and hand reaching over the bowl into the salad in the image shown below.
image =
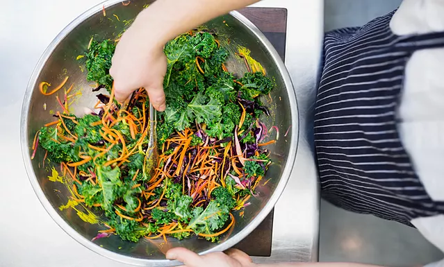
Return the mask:
[[[117,44],[110,69],[117,101],[125,101],[135,89],[145,87],[156,110],[165,110],[163,77],[167,60],[163,46],[191,28],[257,1],[157,0],[151,4]]]

